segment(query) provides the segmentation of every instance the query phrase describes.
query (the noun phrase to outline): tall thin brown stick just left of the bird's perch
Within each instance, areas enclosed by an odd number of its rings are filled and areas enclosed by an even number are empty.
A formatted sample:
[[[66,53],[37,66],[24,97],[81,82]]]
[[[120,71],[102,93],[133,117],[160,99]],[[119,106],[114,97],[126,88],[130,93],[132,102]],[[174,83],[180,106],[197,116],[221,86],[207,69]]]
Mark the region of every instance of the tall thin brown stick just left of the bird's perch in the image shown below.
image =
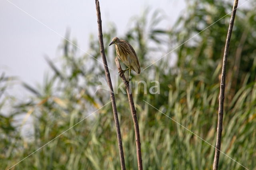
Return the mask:
[[[118,140],[121,169],[125,170],[126,168],[125,168],[125,162],[124,162],[124,150],[123,150],[118,114],[117,114],[117,110],[116,110],[116,100],[115,100],[115,96],[114,96],[113,86],[112,86],[112,82],[111,82],[111,78],[110,78],[110,73],[108,70],[108,63],[106,60],[104,44],[103,44],[102,24],[101,24],[101,16],[100,16],[100,3],[98,0],[95,0],[95,4],[96,4],[96,11],[97,11],[97,19],[98,19],[98,36],[99,36],[99,42],[100,42],[100,53],[101,53],[103,64],[104,64],[104,70],[105,70],[105,74],[106,74],[107,83],[110,88],[110,98],[111,98],[111,102],[112,102],[114,120],[115,120],[115,125],[116,125],[116,134],[117,134],[117,140]]]

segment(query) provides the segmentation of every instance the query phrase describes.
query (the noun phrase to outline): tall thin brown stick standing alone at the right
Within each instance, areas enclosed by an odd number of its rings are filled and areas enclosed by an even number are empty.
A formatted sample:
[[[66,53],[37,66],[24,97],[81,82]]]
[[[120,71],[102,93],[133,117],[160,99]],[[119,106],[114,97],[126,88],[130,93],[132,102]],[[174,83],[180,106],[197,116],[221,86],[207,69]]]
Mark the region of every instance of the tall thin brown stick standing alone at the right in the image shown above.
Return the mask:
[[[232,34],[232,29],[234,26],[234,20],[236,16],[236,8],[238,6],[238,0],[234,0],[233,11],[230,18],[230,23],[228,27],[228,35],[226,39],[226,45],[223,56],[223,64],[222,64],[222,73],[220,80],[220,96],[219,96],[219,109],[218,109],[218,126],[217,126],[217,139],[216,139],[216,148],[214,154],[214,162],[213,162],[213,170],[218,170],[219,165],[219,157],[220,157],[220,145],[221,145],[221,137],[222,137],[222,122],[223,122],[223,110],[224,110],[224,97],[225,97],[225,86],[226,86],[226,66],[228,59],[228,49],[230,45],[230,39]]]

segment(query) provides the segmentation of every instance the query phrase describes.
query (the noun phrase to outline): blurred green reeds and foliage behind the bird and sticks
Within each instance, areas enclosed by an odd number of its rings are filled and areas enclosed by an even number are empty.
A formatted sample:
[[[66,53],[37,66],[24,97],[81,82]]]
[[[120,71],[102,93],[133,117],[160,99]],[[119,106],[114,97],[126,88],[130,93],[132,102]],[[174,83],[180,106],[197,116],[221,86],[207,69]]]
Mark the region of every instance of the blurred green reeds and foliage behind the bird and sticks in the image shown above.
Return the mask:
[[[256,169],[256,11],[255,2],[248,3],[248,7],[237,11],[230,43],[221,150],[247,168]],[[186,10],[172,28],[160,26],[162,20],[168,20],[161,10],[149,9],[131,18],[122,36],[116,35],[117,27],[112,23],[103,28],[110,68],[115,68],[116,54],[108,44],[118,36],[137,51],[142,73],[134,74],[133,81],[147,82],[147,94],[143,84],[134,94],[144,169],[212,168],[212,146],[143,100],[215,146],[219,75],[230,14],[222,17],[231,10],[232,4],[227,1],[193,0],[187,1]],[[66,38],[70,40],[69,32]],[[63,55],[58,63],[46,57],[52,72],[45,76],[43,84],[33,87],[23,83],[24,90],[32,92],[25,99],[7,93],[16,77],[4,73],[0,77],[1,169],[8,169],[110,101],[108,91],[95,93],[100,84],[98,75],[105,76],[102,63],[87,54],[79,55],[77,47],[66,40],[60,49]],[[88,53],[101,61],[97,35],[91,35]],[[116,70],[110,73],[112,77],[117,75]],[[152,80],[160,82],[160,94],[149,93]],[[127,96],[120,92],[116,104],[126,168],[136,169],[130,107]],[[22,129],[26,131],[23,134]],[[244,169],[234,160],[221,154],[220,169]],[[12,169],[120,169],[111,105]]]

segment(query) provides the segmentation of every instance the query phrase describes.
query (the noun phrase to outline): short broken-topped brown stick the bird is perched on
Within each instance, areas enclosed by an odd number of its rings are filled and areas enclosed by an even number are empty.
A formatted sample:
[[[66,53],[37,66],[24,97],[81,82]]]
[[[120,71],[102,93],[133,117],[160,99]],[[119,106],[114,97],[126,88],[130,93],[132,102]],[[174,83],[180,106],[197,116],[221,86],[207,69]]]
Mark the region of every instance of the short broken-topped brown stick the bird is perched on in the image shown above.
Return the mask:
[[[122,67],[121,67],[117,57],[116,57],[115,61],[116,61],[116,67],[117,67],[118,71],[122,70]],[[127,82],[126,77],[125,77],[124,74],[121,76],[121,78],[122,78],[122,81]],[[133,101],[133,97],[132,97],[131,88],[132,88],[131,84],[129,84],[126,87],[126,93],[128,95],[128,100],[129,100],[130,109],[131,109],[131,113],[132,113],[132,119],[133,119],[133,123],[134,123],[138,169],[143,170],[141,147],[140,147],[140,129],[139,129],[139,123],[138,123],[138,119],[137,119],[137,112],[136,112],[136,109],[135,109],[135,106],[134,106],[134,101]]]

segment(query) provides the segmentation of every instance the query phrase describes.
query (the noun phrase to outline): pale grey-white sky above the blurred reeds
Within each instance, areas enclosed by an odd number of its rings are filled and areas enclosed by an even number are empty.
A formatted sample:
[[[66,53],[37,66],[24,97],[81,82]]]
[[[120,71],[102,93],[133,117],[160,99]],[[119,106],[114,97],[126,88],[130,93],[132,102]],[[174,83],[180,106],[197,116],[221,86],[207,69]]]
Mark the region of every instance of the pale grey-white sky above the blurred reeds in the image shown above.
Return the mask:
[[[15,75],[32,85],[42,83],[45,71],[50,70],[44,54],[58,57],[57,47],[67,28],[78,46],[88,51],[88,39],[98,34],[94,0],[1,0],[0,1],[0,73]],[[114,22],[118,35],[123,36],[129,19],[150,7],[162,9],[170,18],[164,24],[172,26],[185,8],[184,0],[100,0],[103,29]],[[122,19],[121,19],[122,18]]]

